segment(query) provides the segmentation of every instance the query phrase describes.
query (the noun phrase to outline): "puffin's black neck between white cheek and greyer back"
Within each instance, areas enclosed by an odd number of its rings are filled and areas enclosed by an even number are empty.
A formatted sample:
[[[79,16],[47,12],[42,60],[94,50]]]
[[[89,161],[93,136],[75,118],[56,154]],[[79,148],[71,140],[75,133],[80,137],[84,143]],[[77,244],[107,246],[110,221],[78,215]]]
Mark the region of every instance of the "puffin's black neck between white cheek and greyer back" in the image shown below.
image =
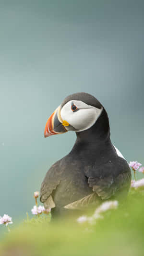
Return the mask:
[[[96,144],[96,147],[100,144],[108,142],[110,140],[110,128],[108,121],[108,114],[103,109],[101,115],[95,122],[95,124],[88,130],[76,133],[77,139],[74,146],[77,144],[89,145]]]

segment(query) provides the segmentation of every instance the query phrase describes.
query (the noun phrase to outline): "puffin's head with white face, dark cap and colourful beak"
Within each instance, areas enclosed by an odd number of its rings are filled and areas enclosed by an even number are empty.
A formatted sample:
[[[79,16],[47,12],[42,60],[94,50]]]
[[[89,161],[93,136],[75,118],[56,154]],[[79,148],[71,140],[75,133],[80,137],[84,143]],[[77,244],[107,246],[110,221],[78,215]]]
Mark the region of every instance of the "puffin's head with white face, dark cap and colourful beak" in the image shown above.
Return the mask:
[[[87,93],[72,94],[48,118],[45,137],[68,131],[86,131],[94,126],[101,115],[103,119],[108,119],[105,109],[95,97]]]

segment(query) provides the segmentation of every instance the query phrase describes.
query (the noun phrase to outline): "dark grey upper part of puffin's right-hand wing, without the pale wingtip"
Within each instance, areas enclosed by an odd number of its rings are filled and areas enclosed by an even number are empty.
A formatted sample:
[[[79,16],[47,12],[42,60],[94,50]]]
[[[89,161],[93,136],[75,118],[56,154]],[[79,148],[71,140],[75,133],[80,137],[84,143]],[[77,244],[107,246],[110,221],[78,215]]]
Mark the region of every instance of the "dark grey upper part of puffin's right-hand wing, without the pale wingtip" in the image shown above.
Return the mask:
[[[109,160],[98,170],[87,170],[85,175],[88,184],[101,199],[109,199],[114,195],[128,193],[131,184],[131,170],[126,160],[118,157]]]

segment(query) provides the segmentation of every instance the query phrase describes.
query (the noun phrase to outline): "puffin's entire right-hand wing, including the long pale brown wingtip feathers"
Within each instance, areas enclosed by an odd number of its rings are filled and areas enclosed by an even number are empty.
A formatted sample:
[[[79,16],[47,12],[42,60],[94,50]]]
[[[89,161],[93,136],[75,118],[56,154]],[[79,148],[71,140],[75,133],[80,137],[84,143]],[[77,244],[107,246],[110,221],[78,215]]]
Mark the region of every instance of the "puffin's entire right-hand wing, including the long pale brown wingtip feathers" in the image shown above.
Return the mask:
[[[113,158],[98,168],[89,166],[84,172],[93,193],[66,205],[67,209],[96,207],[102,200],[111,197],[119,199],[130,190],[131,170],[123,158]]]

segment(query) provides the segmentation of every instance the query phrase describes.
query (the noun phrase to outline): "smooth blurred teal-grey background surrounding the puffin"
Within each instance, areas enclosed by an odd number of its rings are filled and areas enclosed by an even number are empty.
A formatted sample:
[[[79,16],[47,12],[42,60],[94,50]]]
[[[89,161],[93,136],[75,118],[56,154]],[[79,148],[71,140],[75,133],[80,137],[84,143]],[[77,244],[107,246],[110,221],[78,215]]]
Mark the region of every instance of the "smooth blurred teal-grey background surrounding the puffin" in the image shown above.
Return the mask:
[[[75,92],[108,111],[111,140],[144,164],[144,1],[0,1],[0,215],[23,218],[75,134],[44,138]],[[140,174],[140,177],[142,175]]]

